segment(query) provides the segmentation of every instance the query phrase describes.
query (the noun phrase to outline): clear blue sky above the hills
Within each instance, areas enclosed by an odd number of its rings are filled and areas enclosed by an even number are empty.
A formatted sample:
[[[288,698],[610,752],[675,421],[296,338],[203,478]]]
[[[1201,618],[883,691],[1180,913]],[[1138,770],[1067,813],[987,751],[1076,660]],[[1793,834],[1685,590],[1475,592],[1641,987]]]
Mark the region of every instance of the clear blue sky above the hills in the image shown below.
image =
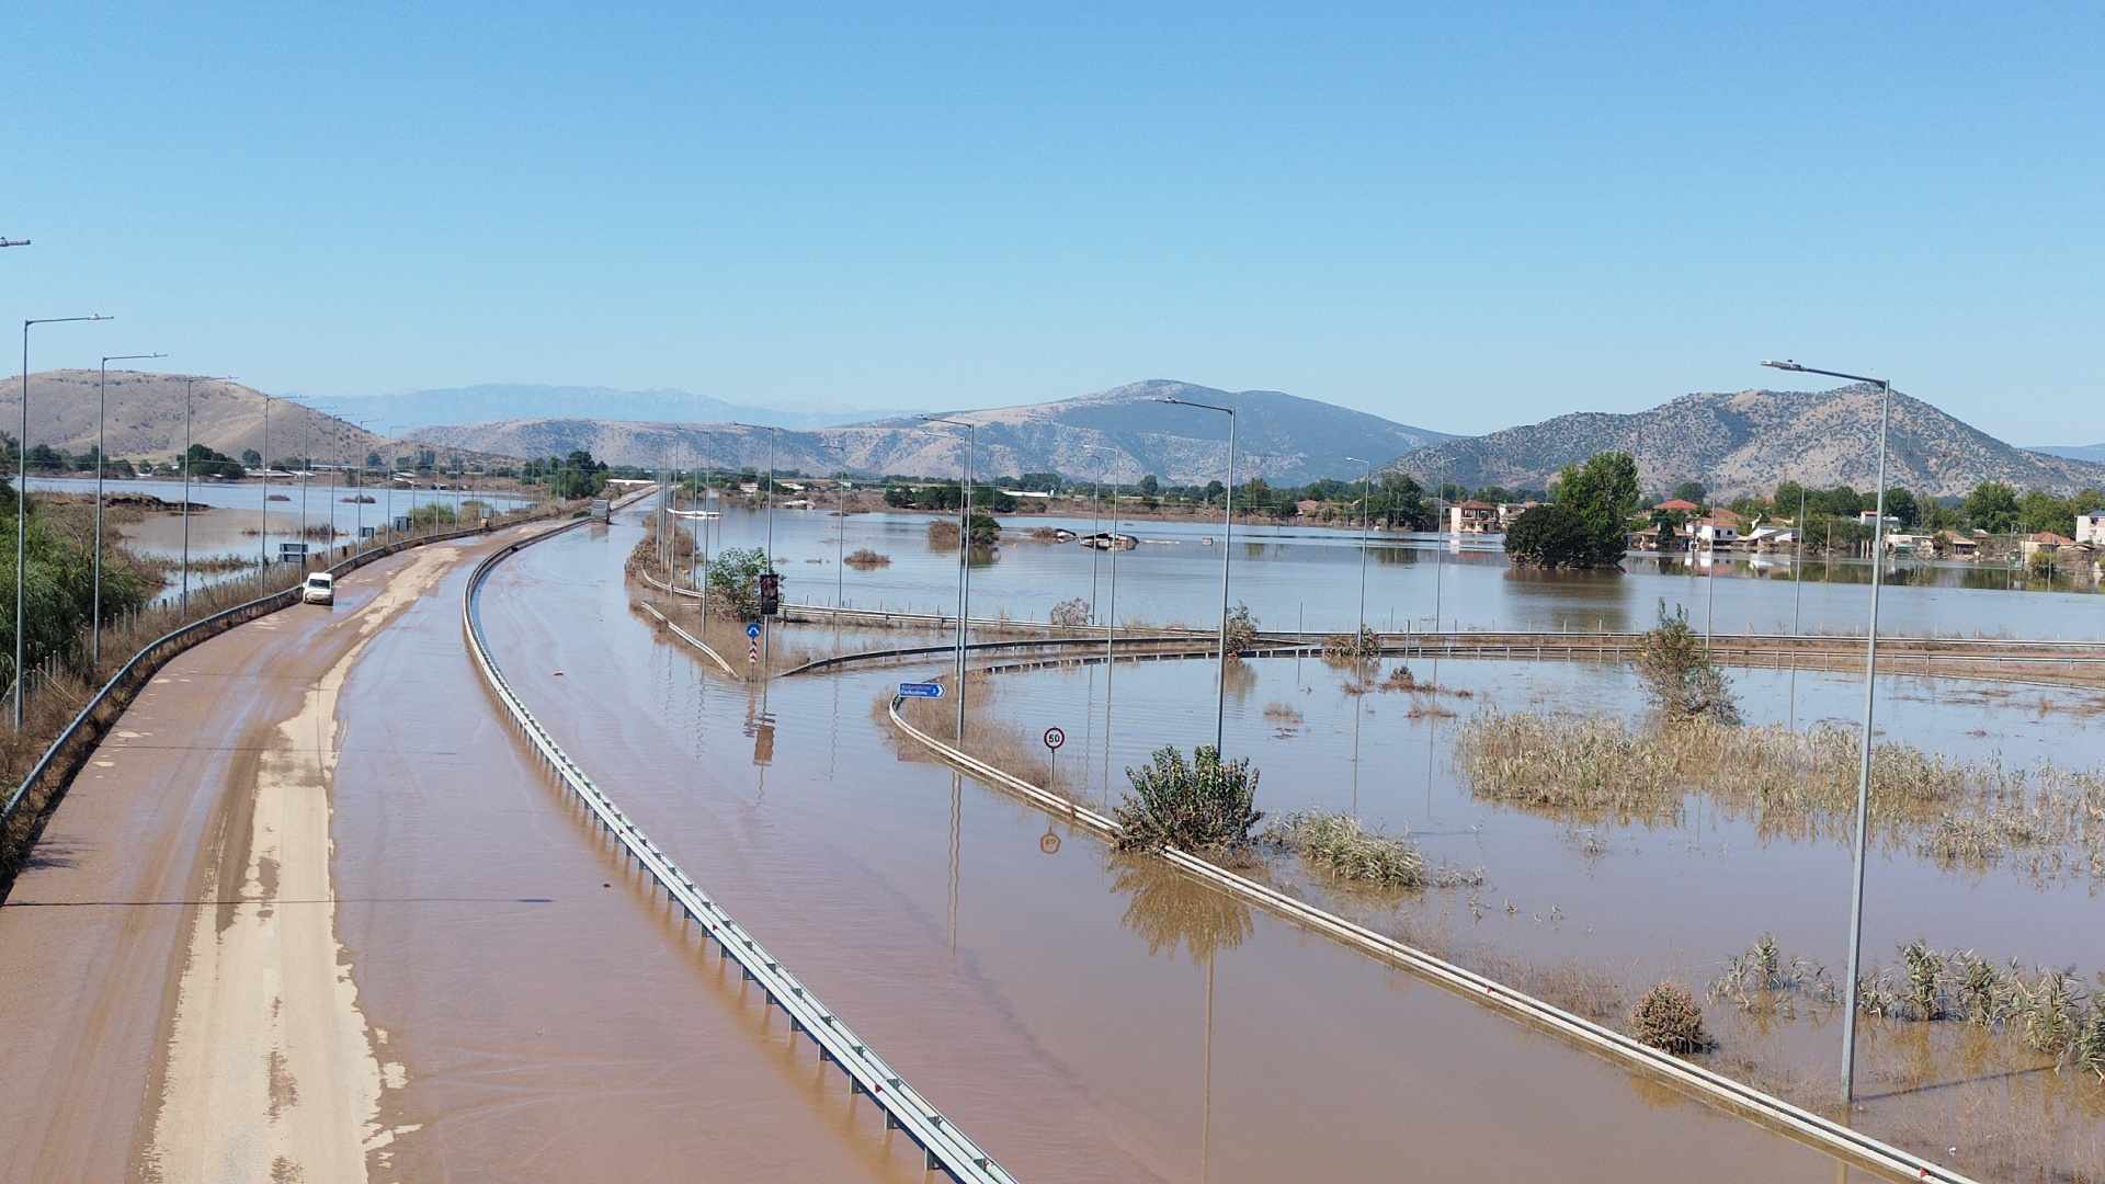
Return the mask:
[[[0,318],[120,316],[36,369],[1482,432],[1793,354],[2105,436],[2097,4],[200,8],[8,17]]]

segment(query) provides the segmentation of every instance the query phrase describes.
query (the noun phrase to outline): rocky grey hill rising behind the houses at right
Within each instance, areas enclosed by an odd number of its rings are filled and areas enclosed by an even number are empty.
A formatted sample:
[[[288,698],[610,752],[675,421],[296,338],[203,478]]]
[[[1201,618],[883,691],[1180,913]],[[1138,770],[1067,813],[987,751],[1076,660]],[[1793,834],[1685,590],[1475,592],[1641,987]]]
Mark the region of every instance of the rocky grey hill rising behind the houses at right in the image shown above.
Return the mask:
[[[1713,495],[1766,493],[1779,480],[1878,485],[1878,390],[1743,390],[1684,394],[1636,415],[1583,411],[1488,436],[1406,453],[1398,466],[1427,480],[1545,489],[1566,463],[1621,449],[1638,457],[1648,493],[1701,480]],[[2105,487],[2105,463],[2014,449],[1951,415],[1892,396],[1888,485],[1924,495],[1966,493],[1981,480],[2073,493]]]

